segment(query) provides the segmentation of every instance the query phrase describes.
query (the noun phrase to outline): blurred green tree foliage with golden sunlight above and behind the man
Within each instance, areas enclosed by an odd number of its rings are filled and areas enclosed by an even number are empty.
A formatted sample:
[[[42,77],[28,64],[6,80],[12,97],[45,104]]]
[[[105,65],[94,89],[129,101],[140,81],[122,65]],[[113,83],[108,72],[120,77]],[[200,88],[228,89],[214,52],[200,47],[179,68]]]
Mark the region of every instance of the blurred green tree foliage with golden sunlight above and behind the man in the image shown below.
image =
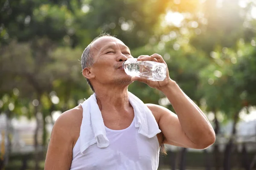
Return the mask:
[[[39,105],[45,125],[54,111],[89,97],[79,59],[108,32],[134,57],[161,54],[170,77],[196,104],[232,120],[256,105],[255,6],[238,0],[3,0],[0,112],[32,118]],[[160,91],[143,83],[129,91],[172,110]]]

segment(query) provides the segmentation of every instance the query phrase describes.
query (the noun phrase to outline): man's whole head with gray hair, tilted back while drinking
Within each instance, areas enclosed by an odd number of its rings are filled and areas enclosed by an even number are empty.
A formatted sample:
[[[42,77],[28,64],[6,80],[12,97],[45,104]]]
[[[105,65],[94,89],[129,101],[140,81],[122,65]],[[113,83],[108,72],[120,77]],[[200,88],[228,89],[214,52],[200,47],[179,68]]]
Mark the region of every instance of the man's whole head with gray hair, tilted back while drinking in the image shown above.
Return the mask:
[[[91,89],[93,86],[108,84],[130,84],[131,77],[122,69],[122,63],[131,58],[129,48],[109,34],[96,37],[81,56],[83,76]]]

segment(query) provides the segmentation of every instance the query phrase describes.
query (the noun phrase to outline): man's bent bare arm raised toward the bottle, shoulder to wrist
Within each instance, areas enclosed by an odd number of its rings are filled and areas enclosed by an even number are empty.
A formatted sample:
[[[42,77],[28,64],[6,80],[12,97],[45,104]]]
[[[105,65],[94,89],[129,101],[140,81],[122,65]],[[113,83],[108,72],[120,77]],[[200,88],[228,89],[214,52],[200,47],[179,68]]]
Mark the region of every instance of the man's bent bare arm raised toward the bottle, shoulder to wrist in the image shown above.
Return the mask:
[[[180,147],[204,149],[215,142],[215,133],[207,117],[195,103],[171,81],[165,88],[160,89],[171,102],[175,112],[148,104],[152,113],[159,117],[158,125],[163,133],[165,144]]]

